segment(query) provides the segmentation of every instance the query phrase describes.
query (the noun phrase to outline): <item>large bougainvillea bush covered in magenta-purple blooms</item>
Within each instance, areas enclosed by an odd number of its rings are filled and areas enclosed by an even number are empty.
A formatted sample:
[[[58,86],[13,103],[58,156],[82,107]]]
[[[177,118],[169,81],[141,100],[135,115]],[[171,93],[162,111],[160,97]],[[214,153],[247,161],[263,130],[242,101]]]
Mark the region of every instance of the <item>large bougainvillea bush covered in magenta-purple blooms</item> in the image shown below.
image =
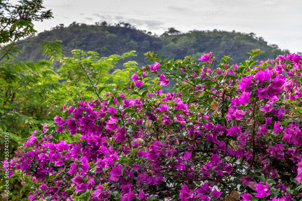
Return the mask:
[[[95,99],[49,102],[55,124],[20,143],[10,176],[30,200],[301,200],[301,56],[248,54],[148,52],[154,64],[113,90],[79,62]]]

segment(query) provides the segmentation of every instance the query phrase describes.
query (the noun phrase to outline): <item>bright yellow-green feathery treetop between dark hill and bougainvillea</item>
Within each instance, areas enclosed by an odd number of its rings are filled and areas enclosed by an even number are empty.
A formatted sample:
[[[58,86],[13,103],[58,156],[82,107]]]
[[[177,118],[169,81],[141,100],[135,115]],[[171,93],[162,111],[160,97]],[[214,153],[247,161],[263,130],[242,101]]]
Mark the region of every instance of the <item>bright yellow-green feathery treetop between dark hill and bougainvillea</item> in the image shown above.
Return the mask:
[[[129,82],[130,76],[136,69],[136,61],[124,63],[124,69],[116,69],[112,74],[109,74],[109,71],[115,68],[118,61],[136,56],[134,53],[135,51],[131,51],[123,55],[110,55],[100,58],[97,52],[84,52],[80,49],[72,50],[73,56],[63,58],[62,65],[58,69],[60,79],[63,81],[62,85],[66,89],[66,91],[58,92],[60,97],[65,96],[65,99],[66,97],[76,98],[74,96],[76,92],[83,88],[85,88],[85,91],[91,89],[86,86],[91,85],[92,80],[100,87],[109,86],[110,88],[117,88],[121,83]],[[88,73],[91,71],[93,73]],[[83,80],[83,78],[85,79]],[[83,93],[90,99],[92,98],[91,93]]]

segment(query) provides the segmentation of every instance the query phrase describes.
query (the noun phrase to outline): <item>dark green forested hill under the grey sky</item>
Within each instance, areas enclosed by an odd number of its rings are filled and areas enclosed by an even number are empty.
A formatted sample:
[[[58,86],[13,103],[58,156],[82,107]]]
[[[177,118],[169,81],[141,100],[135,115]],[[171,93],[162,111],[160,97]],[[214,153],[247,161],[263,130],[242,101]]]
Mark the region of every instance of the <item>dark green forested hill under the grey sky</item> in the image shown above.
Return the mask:
[[[131,50],[136,50],[139,66],[145,65],[147,51],[154,51],[164,58],[183,59],[184,55],[200,57],[203,53],[214,52],[216,58],[230,55],[236,58],[233,63],[240,63],[247,58],[246,52],[252,49],[261,49],[262,54],[257,58],[264,60],[281,55],[288,51],[281,51],[276,45],[268,45],[262,37],[256,37],[254,33],[243,34],[226,31],[198,31],[180,33],[174,28],[169,28],[161,36],[154,36],[151,32],[137,30],[128,23],[115,25],[96,23],[86,25],[72,23],[69,27],[63,24],[56,26],[51,31],[44,31],[37,36],[27,38],[26,41],[42,41],[59,39],[63,42],[65,55],[70,57],[71,50],[82,49],[84,51],[98,52],[101,57],[112,54],[121,55]],[[22,54],[18,55],[21,61],[37,61],[45,58],[38,42],[22,43]],[[122,62],[121,62],[122,63]],[[120,64],[121,66],[121,64]]]

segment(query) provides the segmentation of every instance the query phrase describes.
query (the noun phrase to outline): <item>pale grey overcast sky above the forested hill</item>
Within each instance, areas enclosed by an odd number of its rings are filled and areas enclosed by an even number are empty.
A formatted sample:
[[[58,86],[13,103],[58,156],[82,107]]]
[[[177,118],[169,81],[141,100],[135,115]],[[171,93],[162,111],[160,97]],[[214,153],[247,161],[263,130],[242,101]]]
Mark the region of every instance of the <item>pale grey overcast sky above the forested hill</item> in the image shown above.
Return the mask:
[[[268,44],[302,52],[302,0],[46,0],[53,19],[35,22],[36,30],[50,30],[72,22],[130,23],[161,35],[174,27],[255,33]]]

